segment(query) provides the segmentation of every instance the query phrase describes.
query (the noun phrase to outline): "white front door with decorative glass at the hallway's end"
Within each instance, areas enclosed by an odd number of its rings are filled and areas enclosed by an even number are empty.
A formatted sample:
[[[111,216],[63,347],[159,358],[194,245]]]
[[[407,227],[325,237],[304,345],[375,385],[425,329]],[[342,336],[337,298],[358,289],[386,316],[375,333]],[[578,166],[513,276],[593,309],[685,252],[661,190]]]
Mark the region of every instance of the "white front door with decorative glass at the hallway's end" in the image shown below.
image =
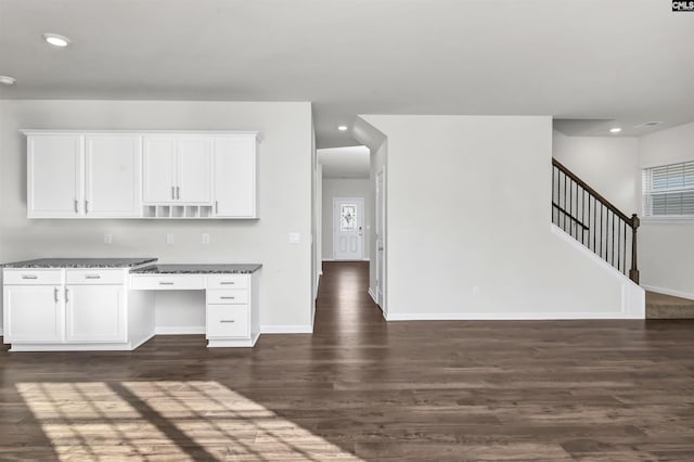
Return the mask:
[[[333,198],[333,258],[364,259],[364,198]]]

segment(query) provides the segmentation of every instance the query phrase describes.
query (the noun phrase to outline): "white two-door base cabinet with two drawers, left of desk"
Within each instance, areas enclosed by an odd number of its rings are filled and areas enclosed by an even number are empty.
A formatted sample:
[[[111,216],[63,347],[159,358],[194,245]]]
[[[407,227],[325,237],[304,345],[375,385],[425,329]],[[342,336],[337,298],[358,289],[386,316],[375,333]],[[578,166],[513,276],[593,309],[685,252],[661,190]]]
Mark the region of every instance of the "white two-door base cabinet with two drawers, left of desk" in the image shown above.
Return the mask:
[[[4,343],[12,350],[131,349],[127,274],[126,269],[4,269]]]

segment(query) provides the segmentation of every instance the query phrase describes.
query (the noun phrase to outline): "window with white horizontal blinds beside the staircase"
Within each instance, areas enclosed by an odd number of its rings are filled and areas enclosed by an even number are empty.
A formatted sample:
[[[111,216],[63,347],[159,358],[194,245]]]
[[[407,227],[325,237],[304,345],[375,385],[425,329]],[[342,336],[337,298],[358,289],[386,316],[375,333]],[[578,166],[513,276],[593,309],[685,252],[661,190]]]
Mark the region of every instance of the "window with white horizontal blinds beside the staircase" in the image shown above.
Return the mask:
[[[694,218],[694,162],[643,170],[643,216]]]

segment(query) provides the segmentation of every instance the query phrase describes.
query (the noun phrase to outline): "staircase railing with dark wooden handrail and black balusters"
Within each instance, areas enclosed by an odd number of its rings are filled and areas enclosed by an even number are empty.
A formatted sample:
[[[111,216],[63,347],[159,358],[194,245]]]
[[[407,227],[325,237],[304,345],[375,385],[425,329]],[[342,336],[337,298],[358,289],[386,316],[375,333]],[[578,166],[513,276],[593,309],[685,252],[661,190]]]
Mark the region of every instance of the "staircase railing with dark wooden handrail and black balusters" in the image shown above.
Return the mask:
[[[552,158],[552,222],[639,283],[637,214],[629,217],[620,211],[555,158]]]

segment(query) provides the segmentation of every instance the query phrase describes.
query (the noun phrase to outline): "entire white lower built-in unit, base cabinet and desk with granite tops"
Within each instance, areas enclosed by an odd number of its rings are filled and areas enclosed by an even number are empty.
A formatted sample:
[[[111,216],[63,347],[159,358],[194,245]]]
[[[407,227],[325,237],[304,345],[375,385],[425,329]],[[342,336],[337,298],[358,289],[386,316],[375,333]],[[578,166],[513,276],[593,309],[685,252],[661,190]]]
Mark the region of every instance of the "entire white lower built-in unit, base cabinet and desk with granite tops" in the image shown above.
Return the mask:
[[[3,342],[11,351],[132,350],[154,336],[155,291],[205,291],[207,345],[255,345],[260,265],[155,261],[43,258],[3,265]]]

